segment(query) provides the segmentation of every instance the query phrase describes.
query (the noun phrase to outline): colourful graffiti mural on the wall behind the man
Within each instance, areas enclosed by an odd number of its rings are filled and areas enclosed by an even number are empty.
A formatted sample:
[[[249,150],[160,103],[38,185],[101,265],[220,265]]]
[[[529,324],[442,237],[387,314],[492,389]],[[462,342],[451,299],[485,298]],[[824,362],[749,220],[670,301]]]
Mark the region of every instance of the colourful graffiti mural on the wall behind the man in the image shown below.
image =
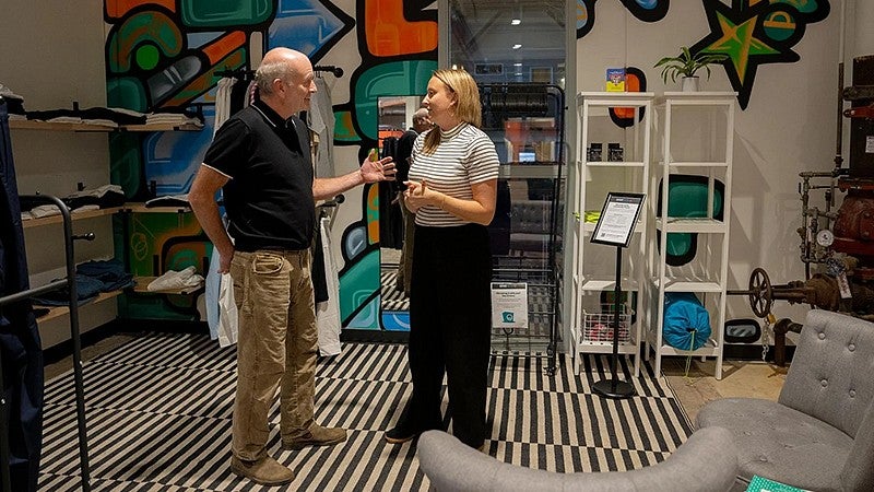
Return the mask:
[[[334,105],[334,144],[356,147],[359,160],[377,145],[377,99],[424,94],[437,59],[437,11],[433,1],[351,0],[105,0],[107,102],[142,113],[193,110],[199,132],[110,137],[113,183],[129,200],[185,194],[212,140],[217,81],[223,72],[252,70],[273,46],[305,52],[314,65],[354,36],[361,59],[341,83],[350,98]],[[353,15],[344,11],[354,11]],[[349,203],[347,206],[352,206]],[[376,187],[364,189],[359,219],[342,231],[340,305],[344,327],[386,329],[379,297],[379,227]],[[157,276],[182,266],[199,269],[211,255],[191,214],[134,214],[119,225],[116,244],[130,253],[129,267]],[[133,227],[131,227],[133,225]],[[125,251],[118,251],[122,254]],[[125,253],[127,254],[127,253]],[[142,257],[141,257],[142,256]],[[188,265],[185,265],[188,266]],[[182,268],[185,268],[182,266]],[[189,300],[190,301],[190,300]],[[185,300],[127,300],[131,317],[177,317]],[[190,314],[190,305],[182,306]],[[188,311],[186,311],[188,309]],[[395,314],[389,328],[403,326]]]

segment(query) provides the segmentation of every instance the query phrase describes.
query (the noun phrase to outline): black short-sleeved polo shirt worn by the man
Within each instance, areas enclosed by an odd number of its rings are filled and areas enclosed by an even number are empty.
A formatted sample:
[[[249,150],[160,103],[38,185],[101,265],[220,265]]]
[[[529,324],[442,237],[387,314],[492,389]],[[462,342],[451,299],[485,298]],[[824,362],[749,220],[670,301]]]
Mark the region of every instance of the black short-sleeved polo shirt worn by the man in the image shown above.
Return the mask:
[[[304,121],[295,116],[283,120],[256,102],[222,125],[203,163],[231,178],[224,202],[235,249],[310,246],[316,204]]]

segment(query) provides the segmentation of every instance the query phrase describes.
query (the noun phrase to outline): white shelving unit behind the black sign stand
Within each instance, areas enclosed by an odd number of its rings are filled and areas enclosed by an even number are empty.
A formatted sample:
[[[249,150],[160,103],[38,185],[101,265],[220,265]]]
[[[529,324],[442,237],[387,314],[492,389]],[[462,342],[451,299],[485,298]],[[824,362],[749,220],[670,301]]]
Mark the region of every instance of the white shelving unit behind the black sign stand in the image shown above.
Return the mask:
[[[595,222],[586,221],[586,212],[601,211],[607,192],[647,192],[650,169],[650,118],[652,93],[581,92],[577,95],[577,142],[579,155],[574,162],[576,186],[569,197],[578,214],[571,237],[571,353],[574,371],[579,373],[582,353],[612,353],[612,335],[601,336],[599,328],[609,327],[612,333],[613,303],[603,303],[602,294],[613,294],[616,285],[614,246],[590,243]],[[611,108],[631,112],[635,124],[622,128],[610,117]],[[642,120],[640,117],[642,116]],[[589,160],[590,144],[602,144],[602,159]],[[623,145],[621,160],[609,160],[607,144]],[[614,156],[616,159],[617,156]],[[641,285],[646,281],[647,213],[641,213],[630,246],[623,251],[621,289],[627,295],[626,313],[622,327],[627,327],[627,338],[618,347],[619,354],[634,355],[634,374],[640,372],[639,347],[641,340],[642,301]],[[636,293],[636,295],[631,295]],[[630,323],[636,318],[635,323]],[[588,330],[587,330],[588,328]],[[625,335],[621,331],[621,335]]]

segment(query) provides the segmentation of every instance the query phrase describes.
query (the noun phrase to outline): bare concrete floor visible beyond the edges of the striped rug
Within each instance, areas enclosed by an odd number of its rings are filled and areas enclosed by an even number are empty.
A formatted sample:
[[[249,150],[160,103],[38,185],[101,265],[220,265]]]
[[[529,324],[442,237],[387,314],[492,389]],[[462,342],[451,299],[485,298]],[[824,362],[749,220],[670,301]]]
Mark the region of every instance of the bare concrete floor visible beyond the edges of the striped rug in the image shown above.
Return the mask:
[[[118,333],[104,338],[82,349],[82,360],[87,361],[137,337],[137,333]],[[788,367],[778,367],[761,361],[725,360],[722,365],[722,379],[713,377],[716,360],[701,362],[694,360],[688,376],[685,375],[684,358],[664,358],[662,370],[671,388],[683,405],[692,422],[708,401],[727,397],[749,397],[777,400],[786,382]],[[61,375],[73,367],[72,356],[64,358],[45,368],[46,380]]]

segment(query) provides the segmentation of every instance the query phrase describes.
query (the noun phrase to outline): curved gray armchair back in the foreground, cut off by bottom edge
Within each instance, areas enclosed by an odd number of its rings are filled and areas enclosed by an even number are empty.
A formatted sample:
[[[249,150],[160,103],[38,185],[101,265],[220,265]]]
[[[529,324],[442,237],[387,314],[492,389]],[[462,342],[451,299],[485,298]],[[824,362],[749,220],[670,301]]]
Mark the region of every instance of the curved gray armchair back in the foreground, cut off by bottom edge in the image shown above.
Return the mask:
[[[731,434],[724,429],[698,431],[664,461],[633,471],[557,473],[518,467],[442,431],[422,434],[417,453],[422,471],[438,492],[714,492],[729,490],[737,472]]]

